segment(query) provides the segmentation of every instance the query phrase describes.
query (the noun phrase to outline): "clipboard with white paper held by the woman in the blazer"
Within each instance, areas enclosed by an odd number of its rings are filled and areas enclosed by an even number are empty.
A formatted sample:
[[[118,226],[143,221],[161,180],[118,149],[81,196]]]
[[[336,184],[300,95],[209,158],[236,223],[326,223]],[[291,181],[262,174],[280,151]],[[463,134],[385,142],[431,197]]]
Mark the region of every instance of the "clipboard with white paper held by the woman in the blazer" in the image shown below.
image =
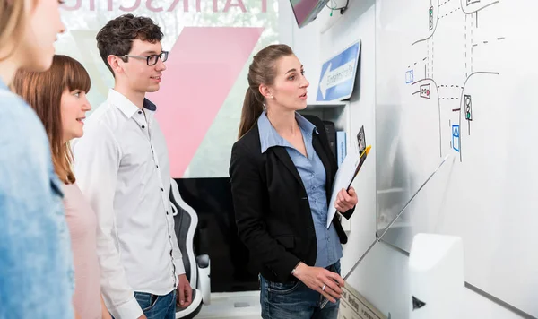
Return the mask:
[[[336,176],[334,177],[333,194],[331,195],[331,201],[327,208],[327,223],[326,228],[331,226],[336,209],[334,208],[334,202],[336,202],[336,196],[341,189],[345,188],[349,191],[353,180],[359,174],[360,168],[364,164],[364,161],[368,157],[368,153],[371,149],[371,145],[366,145],[366,136],[364,134],[364,126],[360,127],[357,134],[357,149],[348,152],[342,165],[338,168]]]

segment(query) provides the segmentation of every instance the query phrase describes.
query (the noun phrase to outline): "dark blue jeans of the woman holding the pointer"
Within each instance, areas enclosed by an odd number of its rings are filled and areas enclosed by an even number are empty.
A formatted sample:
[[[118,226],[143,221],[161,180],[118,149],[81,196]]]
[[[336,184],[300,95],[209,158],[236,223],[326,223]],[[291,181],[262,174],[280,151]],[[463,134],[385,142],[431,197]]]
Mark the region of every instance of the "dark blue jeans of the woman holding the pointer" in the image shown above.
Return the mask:
[[[327,267],[331,272],[340,274],[340,261]],[[321,309],[325,297],[309,289],[302,281],[273,282],[260,276],[260,303],[264,319],[336,319],[338,306],[328,302]]]

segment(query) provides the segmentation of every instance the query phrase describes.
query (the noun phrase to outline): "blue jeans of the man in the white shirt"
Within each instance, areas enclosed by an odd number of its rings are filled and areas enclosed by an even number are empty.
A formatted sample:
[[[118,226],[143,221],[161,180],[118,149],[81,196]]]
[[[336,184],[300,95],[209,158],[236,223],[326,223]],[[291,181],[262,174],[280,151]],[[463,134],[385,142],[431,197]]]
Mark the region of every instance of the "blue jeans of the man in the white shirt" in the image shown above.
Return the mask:
[[[176,319],[176,289],[165,296],[134,291],[134,297],[148,319]]]

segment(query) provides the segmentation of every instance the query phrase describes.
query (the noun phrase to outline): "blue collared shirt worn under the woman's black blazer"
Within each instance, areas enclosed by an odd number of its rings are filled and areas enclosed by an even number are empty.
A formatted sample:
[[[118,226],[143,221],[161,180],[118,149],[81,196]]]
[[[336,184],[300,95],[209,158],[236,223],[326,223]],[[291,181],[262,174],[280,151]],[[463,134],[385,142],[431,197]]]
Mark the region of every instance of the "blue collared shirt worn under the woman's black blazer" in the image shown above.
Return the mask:
[[[266,113],[258,118],[257,125],[260,132],[260,143],[262,153],[273,146],[282,146],[288,151],[288,154],[295,164],[299,172],[305,190],[308,195],[308,203],[312,211],[312,219],[314,220],[314,228],[317,238],[317,267],[327,267],[336,263],[342,258],[342,245],[336,233],[334,225],[327,229],[325,227],[327,221],[327,196],[325,191],[325,167],[323,162],[317,156],[317,152],[312,145],[312,134],[318,134],[316,125],[310,123],[306,118],[295,113],[295,119],[299,124],[303,141],[307,149],[308,157],[305,157],[290,142],[286,141],[274,129],[271,122],[267,118]]]

